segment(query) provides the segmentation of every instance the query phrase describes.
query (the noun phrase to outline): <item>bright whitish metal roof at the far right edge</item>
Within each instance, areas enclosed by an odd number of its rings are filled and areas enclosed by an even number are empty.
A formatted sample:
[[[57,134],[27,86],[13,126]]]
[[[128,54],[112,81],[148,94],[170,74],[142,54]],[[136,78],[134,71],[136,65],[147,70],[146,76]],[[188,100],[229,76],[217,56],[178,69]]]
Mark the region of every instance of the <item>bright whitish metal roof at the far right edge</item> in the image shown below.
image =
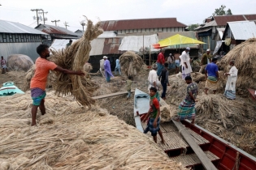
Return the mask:
[[[256,25],[254,22],[228,22],[228,27],[231,29],[235,40],[248,40],[256,36]]]

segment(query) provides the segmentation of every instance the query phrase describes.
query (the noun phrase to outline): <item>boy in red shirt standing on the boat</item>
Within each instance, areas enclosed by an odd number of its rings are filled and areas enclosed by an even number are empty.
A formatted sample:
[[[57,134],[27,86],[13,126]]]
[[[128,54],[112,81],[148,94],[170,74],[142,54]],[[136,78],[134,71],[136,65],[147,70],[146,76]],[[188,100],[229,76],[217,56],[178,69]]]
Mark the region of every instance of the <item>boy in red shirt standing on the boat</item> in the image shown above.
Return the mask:
[[[157,134],[159,134],[162,142],[164,143],[163,134],[160,130],[160,104],[156,98],[156,93],[157,89],[155,87],[150,87],[150,109],[143,121],[146,121],[147,118],[150,117],[149,129],[151,135],[153,136],[154,142],[157,142]]]

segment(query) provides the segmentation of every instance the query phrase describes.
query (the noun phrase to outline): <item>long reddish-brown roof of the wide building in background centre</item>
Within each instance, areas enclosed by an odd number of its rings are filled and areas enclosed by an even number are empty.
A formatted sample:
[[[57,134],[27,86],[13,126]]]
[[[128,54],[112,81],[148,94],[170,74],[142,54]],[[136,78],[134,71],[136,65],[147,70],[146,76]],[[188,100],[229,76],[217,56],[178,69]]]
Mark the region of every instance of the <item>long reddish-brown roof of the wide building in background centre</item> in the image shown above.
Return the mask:
[[[176,18],[162,19],[127,19],[127,20],[109,20],[102,21],[101,27],[104,31],[117,31],[127,29],[141,28],[177,28],[187,27],[184,23],[180,23]]]

